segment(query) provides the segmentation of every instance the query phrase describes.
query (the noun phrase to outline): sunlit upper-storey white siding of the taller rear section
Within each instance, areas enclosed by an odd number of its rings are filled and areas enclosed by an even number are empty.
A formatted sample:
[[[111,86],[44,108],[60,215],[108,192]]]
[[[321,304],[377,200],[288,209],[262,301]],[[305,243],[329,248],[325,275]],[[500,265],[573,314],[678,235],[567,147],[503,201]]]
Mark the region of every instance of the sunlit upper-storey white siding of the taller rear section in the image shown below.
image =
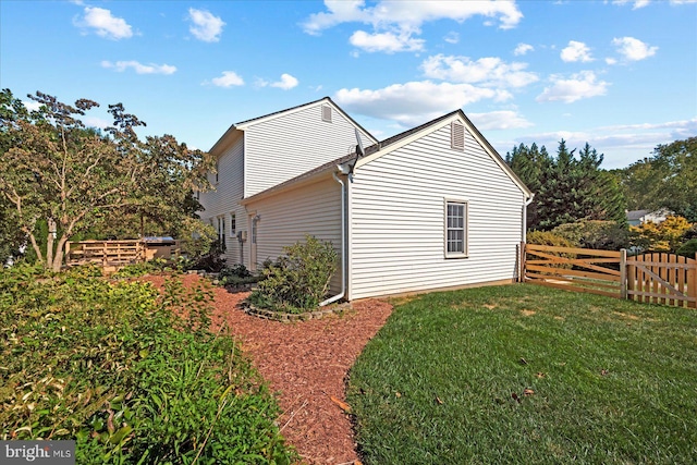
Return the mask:
[[[250,197],[355,150],[355,126],[332,110],[331,124],[322,121],[318,102],[289,114],[250,124],[245,130],[246,185]],[[372,144],[362,134],[365,146]]]

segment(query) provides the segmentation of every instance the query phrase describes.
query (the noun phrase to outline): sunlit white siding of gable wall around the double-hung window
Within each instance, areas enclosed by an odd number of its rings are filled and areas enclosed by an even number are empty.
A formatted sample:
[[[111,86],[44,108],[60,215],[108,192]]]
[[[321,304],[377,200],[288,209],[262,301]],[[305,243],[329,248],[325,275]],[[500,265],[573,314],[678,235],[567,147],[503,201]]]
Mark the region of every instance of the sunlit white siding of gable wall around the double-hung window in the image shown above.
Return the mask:
[[[444,199],[467,201],[467,259],[445,258]],[[465,131],[443,124],[356,170],[350,298],[492,282],[516,274],[523,192]]]

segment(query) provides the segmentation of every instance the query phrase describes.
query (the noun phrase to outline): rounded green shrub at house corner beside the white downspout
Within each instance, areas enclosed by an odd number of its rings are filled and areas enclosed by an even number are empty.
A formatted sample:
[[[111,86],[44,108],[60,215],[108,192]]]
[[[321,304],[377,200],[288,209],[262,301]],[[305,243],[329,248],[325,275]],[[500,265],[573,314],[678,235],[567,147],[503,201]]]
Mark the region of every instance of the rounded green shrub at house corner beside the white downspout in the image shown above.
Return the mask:
[[[298,313],[317,307],[329,291],[337,270],[337,252],[330,242],[306,235],[305,243],[284,247],[285,255],[265,268],[264,280],[250,301],[279,311]]]

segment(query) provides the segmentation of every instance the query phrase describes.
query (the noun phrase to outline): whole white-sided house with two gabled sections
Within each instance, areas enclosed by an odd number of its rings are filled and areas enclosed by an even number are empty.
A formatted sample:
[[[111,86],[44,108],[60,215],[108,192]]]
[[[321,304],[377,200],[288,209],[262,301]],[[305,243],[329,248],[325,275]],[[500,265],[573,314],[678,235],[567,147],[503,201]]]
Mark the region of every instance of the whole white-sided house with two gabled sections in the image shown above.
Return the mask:
[[[211,152],[201,218],[230,264],[254,269],[308,233],[342,257],[335,298],[516,278],[533,194],[460,110],[378,142],[323,98],[233,125]]]

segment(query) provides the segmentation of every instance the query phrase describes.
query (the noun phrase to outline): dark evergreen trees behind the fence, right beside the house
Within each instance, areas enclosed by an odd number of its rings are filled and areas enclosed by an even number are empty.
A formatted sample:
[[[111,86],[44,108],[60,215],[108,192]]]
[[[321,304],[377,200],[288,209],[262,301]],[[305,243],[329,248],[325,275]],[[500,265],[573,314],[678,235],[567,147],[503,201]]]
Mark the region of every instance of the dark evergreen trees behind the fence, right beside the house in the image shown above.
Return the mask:
[[[603,156],[586,144],[578,157],[562,139],[557,157],[536,144],[506,155],[506,162],[536,194],[528,207],[527,228],[551,230],[578,220],[625,222],[625,201],[614,176],[600,169]]]

